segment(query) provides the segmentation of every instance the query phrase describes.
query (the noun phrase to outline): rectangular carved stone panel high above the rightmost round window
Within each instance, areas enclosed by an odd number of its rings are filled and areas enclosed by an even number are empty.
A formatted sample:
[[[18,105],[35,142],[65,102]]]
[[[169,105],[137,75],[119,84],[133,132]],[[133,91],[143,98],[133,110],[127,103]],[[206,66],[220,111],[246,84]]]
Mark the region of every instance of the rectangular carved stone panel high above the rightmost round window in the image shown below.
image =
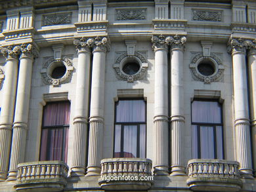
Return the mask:
[[[212,21],[221,22],[223,19],[222,12],[220,10],[192,10],[194,21]]]

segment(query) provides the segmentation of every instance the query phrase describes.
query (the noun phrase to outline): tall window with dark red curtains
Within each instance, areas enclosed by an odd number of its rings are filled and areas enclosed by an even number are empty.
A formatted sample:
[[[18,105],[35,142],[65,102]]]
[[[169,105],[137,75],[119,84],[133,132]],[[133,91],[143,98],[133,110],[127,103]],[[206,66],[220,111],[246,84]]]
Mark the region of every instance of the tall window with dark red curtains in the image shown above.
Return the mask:
[[[67,162],[70,102],[49,102],[43,107],[40,161]]]

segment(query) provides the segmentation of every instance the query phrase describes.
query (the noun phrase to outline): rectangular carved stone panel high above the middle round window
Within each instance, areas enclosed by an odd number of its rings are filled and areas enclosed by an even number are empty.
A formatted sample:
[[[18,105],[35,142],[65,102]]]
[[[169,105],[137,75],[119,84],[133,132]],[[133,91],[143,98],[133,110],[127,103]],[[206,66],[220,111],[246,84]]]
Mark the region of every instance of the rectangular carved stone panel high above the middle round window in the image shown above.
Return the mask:
[[[146,20],[146,9],[117,9],[116,20]]]

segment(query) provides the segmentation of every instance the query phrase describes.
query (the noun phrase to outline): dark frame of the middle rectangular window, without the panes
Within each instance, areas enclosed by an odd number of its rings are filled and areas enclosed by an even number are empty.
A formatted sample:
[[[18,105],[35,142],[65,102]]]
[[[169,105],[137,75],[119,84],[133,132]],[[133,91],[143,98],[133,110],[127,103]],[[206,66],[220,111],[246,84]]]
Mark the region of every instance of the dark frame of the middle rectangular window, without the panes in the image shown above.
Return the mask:
[[[116,121],[116,112],[117,112],[117,103],[121,100],[142,100],[145,104],[145,121],[144,122],[117,122]],[[144,98],[118,98],[118,100],[115,102],[115,109],[114,109],[114,147],[113,147],[113,155],[112,157],[114,157],[115,155],[115,147],[116,147],[116,125],[121,125],[121,138],[120,138],[120,142],[121,142],[121,145],[120,145],[120,156],[119,158],[127,158],[127,157],[123,157],[124,156],[124,151],[123,151],[123,144],[124,144],[124,140],[123,140],[123,132],[124,132],[124,126],[126,125],[137,125],[137,157],[135,158],[142,158],[142,157],[139,157],[139,153],[140,153],[140,125],[145,125],[145,137],[147,135],[147,126],[146,126],[146,122],[147,122],[147,119],[146,119],[146,116],[147,116],[147,108],[146,108],[146,100],[144,100]],[[147,137],[145,138],[145,158],[146,158],[146,142],[147,142]],[[115,157],[114,157],[115,158]]]

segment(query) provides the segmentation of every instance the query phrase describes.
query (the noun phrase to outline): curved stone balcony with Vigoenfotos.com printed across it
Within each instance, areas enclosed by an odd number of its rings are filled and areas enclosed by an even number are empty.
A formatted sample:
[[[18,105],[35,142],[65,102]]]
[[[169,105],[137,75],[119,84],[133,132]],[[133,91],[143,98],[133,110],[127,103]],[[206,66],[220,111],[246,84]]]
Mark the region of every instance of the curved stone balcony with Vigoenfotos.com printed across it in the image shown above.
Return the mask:
[[[153,182],[152,161],[140,158],[112,158],[101,161],[100,187],[106,190],[146,190]]]

